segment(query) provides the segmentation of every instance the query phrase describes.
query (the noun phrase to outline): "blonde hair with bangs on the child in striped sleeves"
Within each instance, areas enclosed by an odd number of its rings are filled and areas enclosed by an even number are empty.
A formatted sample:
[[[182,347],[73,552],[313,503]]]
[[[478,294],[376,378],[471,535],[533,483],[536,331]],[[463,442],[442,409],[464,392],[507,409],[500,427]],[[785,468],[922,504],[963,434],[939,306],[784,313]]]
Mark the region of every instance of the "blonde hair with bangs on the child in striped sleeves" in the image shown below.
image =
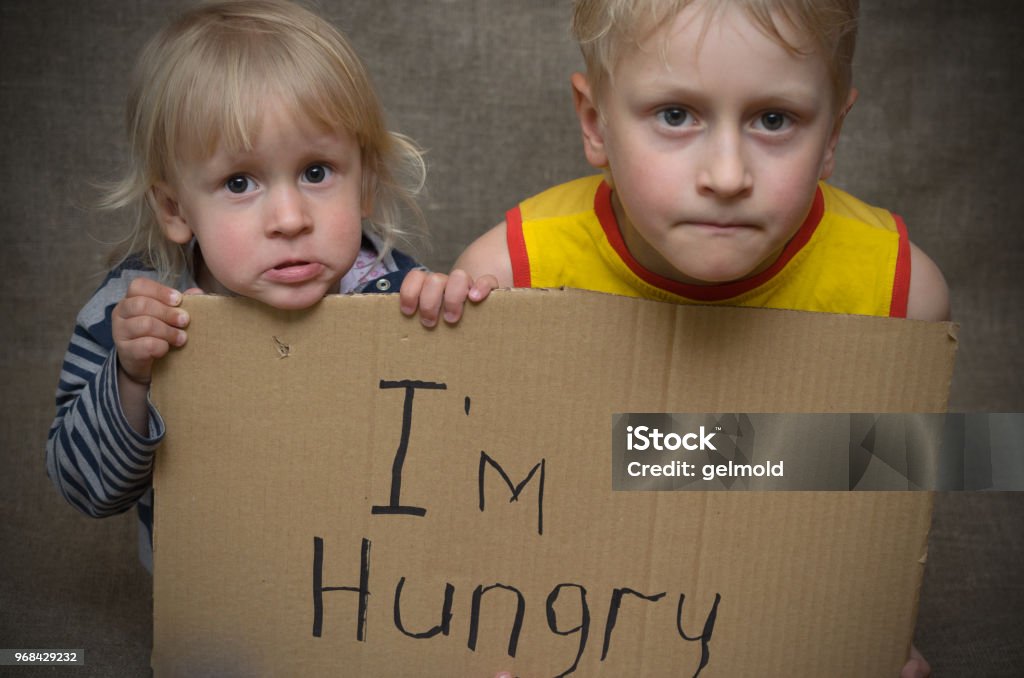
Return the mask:
[[[288,0],[221,0],[184,13],[143,49],[127,105],[130,166],[101,202],[132,210],[132,232],[116,261],[133,256],[170,281],[190,263],[168,241],[152,188],[182,161],[223,144],[251,149],[265,101],[279,97],[296,116],[352,134],[362,160],[362,207],[385,251],[403,235],[424,183],[420,151],[389,132],[369,76],[342,34]],[[380,253],[381,256],[385,252]]]

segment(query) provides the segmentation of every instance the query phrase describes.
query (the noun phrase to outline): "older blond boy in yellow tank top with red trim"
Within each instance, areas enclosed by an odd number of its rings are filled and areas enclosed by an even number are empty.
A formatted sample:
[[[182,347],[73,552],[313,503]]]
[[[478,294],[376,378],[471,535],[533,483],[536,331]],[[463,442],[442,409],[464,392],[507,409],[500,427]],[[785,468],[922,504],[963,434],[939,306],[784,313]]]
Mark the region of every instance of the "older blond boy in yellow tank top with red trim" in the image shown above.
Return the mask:
[[[856,20],[856,0],[577,0],[572,91],[602,175],[524,201],[456,266],[501,286],[946,320],[945,281],[899,217],[823,182],[857,97]]]

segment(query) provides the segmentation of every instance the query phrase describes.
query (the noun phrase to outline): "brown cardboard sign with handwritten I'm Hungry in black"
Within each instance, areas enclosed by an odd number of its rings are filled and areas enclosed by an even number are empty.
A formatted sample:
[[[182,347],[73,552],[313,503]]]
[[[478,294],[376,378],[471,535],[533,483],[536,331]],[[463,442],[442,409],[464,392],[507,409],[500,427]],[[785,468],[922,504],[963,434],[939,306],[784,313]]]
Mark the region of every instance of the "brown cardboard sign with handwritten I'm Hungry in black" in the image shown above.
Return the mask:
[[[928,493],[613,492],[612,414],[942,412],[954,326],[498,292],[195,297],[154,399],[163,675],[895,676]]]

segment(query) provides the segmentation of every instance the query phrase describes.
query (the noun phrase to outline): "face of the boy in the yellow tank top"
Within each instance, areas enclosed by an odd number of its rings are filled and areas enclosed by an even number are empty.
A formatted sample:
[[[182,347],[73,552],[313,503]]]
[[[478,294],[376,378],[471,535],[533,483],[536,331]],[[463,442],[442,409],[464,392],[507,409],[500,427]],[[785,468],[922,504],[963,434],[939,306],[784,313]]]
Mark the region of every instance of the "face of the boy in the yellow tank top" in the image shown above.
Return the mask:
[[[583,76],[573,85],[631,253],[666,278],[720,284],[770,266],[800,228],[839,125],[810,47],[786,51],[735,7],[701,34],[703,11],[690,5],[626,53],[599,101]]]

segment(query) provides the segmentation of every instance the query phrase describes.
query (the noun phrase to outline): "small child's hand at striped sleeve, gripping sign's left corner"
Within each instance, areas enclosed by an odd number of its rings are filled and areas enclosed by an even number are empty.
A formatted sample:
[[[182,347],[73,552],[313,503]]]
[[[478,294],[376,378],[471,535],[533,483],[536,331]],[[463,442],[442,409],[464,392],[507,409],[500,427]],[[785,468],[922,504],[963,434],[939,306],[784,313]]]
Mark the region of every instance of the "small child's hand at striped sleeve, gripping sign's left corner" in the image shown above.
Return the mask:
[[[129,380],[147,384],[154,361],[166,355],[171,346],[185,343],[188,313],[177,308],[180,304],[180,292],[148,278],[136,278],[128,286],[125,298],[114,307],[112,321],[118,364]]]

